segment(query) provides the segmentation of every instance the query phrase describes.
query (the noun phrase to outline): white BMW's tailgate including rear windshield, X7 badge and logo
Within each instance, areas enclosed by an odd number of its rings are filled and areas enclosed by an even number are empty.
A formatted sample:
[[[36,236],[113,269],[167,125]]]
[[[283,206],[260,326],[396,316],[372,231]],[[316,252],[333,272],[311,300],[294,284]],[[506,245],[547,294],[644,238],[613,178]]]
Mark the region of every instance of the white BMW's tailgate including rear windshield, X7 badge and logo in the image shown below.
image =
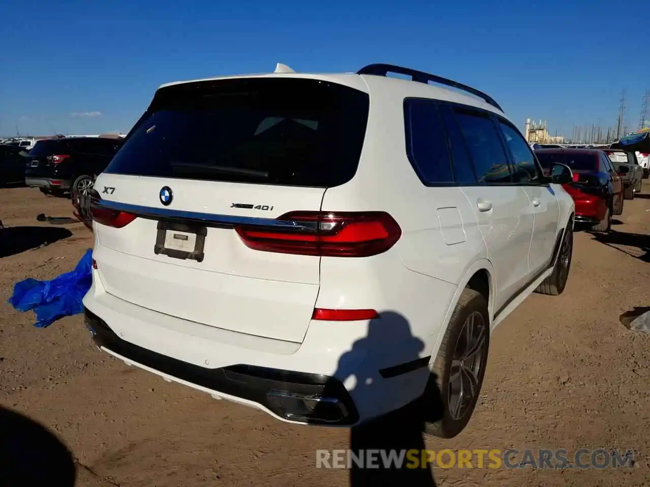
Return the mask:
[[[107,292],[205,325],[302,342],[320,257],[250,248],[234,228],[265,223],[252,237],[263,247],[278,217],[320,210],[328,187],[354,177],[368,110],[366,93],[312,79],[159,90],[95,184],[105,205],[138,215],[122,228],[94,224]]]

